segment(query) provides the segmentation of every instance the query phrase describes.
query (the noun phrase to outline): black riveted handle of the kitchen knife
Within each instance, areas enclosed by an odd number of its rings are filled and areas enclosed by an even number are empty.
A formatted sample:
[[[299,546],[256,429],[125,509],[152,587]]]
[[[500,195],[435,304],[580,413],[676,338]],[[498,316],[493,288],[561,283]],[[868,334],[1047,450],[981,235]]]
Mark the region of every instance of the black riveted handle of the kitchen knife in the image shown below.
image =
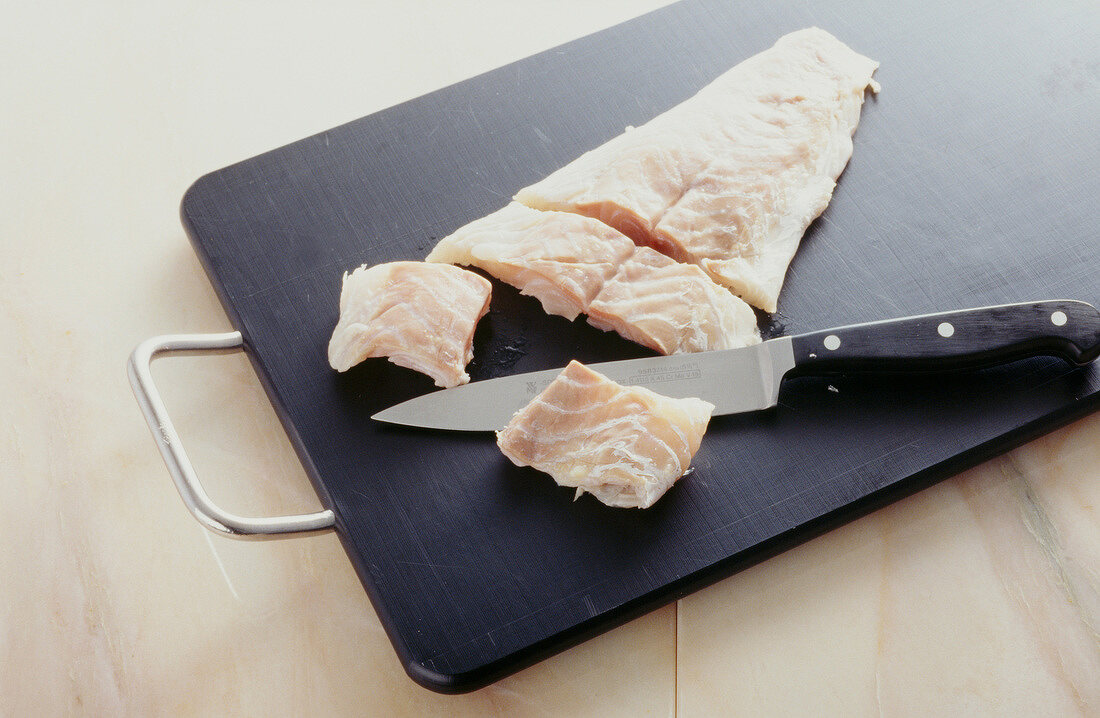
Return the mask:
[[[1058,299],[923,314],[792,336],[792,375],[938,372],[1049,354],[1087,364],[1100,354],[1100,311]]]

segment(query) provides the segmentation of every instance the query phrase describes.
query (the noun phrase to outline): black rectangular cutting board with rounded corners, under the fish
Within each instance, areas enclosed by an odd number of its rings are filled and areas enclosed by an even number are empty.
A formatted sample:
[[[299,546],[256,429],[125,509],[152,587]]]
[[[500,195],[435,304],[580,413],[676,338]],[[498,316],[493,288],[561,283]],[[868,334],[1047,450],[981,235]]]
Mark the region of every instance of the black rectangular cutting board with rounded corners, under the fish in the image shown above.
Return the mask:
[[[882,66],[856,151],[767,334],[1047,298],[1100,300],[1092,2],[689,0],[200,178],[182,213],[409,674],[471,689],[1096,408],[1057,360],[799,379],[716,419],[645,511],[514,467],[491,434],[370,416],[431,390],[332,372],[340,278],[422,258],[582,152],[820,25]],[[350,86],[355,78],[349,78]],[[646,355],[494,283],[470,373]],[[763,587],[767,590],[767,587]],[[628,656],[623,656],[628,660]]]

